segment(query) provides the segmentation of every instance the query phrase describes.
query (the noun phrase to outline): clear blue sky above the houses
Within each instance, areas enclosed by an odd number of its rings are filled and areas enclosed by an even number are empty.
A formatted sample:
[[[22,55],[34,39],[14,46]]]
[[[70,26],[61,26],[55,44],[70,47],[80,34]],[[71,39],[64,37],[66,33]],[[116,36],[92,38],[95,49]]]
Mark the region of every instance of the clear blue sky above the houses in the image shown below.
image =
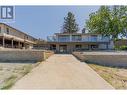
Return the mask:
[[[46,39],[47,36],[60,32],[69,11],[75,14],[81,31],[89,14],[98,8],[99,6],[16,6],[15,22],[8,24],[33,37]]]

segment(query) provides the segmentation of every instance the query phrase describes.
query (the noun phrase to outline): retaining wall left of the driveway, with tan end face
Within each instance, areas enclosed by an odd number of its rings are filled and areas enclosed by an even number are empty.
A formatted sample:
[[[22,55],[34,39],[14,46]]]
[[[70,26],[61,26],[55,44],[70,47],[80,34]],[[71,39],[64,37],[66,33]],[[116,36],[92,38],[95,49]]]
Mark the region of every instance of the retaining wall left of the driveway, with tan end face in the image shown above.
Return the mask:
[[[0,62],[38,62],[52,54],[45,50],[0,50]]]

